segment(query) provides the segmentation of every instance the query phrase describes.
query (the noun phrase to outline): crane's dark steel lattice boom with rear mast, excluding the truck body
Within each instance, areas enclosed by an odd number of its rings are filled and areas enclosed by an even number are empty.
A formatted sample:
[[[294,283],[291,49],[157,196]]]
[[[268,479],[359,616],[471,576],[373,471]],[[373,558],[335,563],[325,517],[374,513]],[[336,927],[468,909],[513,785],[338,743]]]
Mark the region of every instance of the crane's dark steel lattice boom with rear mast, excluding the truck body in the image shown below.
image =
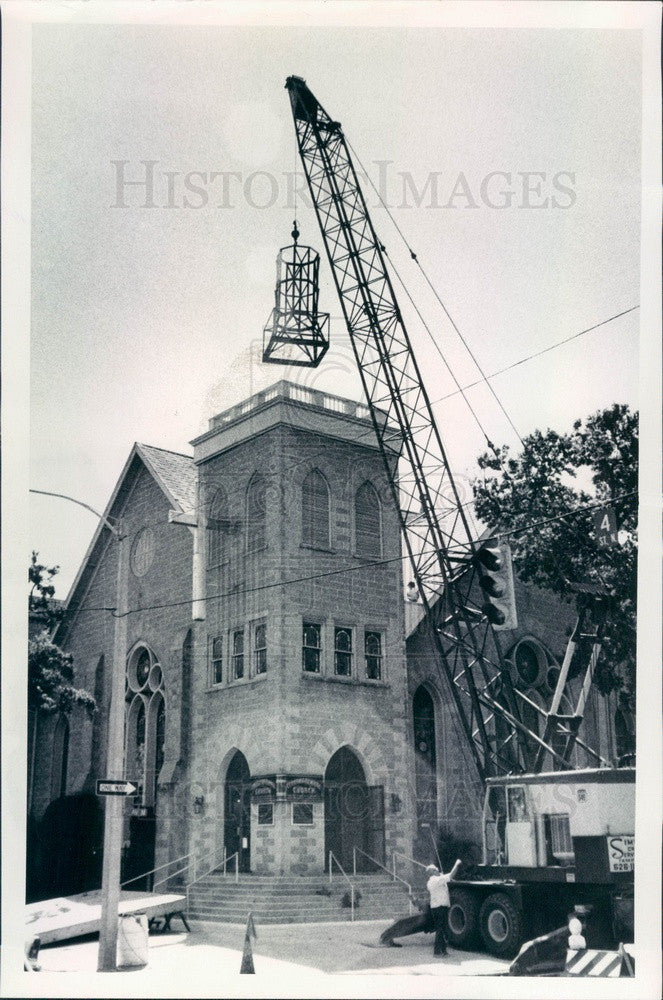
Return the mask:
[[[442,675],[480,779],[568,767],[601,645],[606,595],[579,595],[579,618],[559,672],[543,736],[524,720],[500,647],[499,619],[485,603],[487,545],[475,538],[442,443],[348,143],[301,77],[286,89],[299,154],[343,310],[375,435],[400,519],[414,588],[424,605]],[[492,553],[494,558],[496,553]],[[486,582],[487,581],[487,582]],[[490,594],[490,590],[488,590]],[[483,601],[483,603],[482,603]],[[569,666],[589,650],[575,709],[560,711]]]

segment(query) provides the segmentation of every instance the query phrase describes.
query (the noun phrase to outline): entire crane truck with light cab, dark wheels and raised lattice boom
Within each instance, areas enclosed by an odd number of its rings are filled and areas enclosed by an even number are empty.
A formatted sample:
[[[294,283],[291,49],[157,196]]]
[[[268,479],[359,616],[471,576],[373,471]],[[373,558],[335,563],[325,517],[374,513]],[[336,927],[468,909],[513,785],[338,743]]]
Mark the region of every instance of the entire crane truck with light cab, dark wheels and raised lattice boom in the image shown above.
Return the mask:
[[[485,788],[482,863],[453,884],[450,940],[513,954],[583,903],[594,943],[632,940],[635,772],[611,767],[580,735],[610,595],[575,588],[578,620],[550,705],[528,700],[499,640],[510,622],[495,577],[510,566],[508,547],[477,539],[468,522],[349,144],[302,78],[285,86],[412,582]],[[596,766],[574,769],[575,748]]]

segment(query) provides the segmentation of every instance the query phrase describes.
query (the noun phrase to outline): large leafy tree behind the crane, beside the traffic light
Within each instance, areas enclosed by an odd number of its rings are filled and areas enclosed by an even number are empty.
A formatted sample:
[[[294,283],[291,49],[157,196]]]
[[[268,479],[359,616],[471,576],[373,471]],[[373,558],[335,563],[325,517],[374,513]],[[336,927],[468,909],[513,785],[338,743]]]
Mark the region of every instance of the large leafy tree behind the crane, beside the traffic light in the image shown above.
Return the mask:
[[[505,445],[478,463],[483,476],[473,482],[477,515],[492,529],[513,532],[522,580],[560,595],[568,594],[568,581],[592,581],[613,594],[595,679],[603,693],[633,692],[638,414],[615,403],[576,420],[569,433],[534,431],[515,457]],[[613,548],[598,548],[596,510],[582,508],[598,501],[617,515],[619,545]]]

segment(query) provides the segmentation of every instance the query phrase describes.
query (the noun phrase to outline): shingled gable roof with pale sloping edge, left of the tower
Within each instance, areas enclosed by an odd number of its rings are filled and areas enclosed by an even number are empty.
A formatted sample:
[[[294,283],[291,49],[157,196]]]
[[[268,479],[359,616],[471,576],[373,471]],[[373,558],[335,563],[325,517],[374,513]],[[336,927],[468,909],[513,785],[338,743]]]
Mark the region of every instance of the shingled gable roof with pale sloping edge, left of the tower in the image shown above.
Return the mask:
[[[118,499],[126,495],[127,480],[129,472],[136,459],[142,463],[152,476],[157,486],[161,489],[170,504],[179,512],[192,512],[197,504],[197,484],[198,473],[193,463],[193,458],[189,455],[182,455],[176,451],[166,451],[165,448],[155,448],[152,445],[134,444],[119,479],[108,501],[100,519],[97,529],[92,537],[87,552],[83,557],[76,579],[71,585],[71,589],[65,601],[65,611],[76,611],[78,594],[85,593],[94,571],[98,565],[101,546],[105,545],[109,538],[109,528],[107,519],[114,516],[114,509]],[[95,557],[96,556],[96,557]],[[65,615],[56,629],[58,639],[62,633],[66,633],[71,621],[71,615]]]

